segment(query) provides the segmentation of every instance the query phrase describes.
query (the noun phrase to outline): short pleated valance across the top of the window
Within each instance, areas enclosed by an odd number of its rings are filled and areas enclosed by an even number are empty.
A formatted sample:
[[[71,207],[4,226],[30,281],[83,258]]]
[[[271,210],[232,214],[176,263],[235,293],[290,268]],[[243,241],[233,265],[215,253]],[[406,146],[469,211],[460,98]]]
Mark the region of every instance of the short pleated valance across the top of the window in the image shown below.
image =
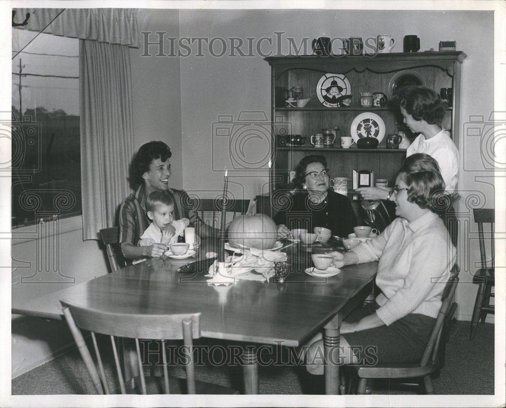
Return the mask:
[[[13,11],[16,12],[16,23],[22,23],[26,14],[30,13],[27,24],[16,28],[41,31],[51,23],[44,29],[45,33],[139,48],[137,21],[133,9],[31,8]]]

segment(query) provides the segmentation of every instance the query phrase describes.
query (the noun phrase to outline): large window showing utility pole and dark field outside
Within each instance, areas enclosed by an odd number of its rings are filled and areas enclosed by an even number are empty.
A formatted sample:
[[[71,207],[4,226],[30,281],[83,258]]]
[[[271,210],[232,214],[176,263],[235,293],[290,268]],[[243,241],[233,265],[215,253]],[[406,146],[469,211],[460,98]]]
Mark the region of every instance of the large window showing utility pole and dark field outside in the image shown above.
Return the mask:
[[[12,226],[79,215],[79,40],[13,29],[12,47]]]

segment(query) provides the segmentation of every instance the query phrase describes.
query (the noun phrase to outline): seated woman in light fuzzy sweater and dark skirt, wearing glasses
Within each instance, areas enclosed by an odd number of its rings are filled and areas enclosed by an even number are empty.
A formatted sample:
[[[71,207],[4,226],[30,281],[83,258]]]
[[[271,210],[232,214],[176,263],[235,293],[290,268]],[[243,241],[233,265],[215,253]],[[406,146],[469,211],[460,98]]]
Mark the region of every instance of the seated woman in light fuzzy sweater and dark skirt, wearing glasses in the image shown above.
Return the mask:
[[[341,326],[340,354],[347,364],[362,362],[366,346],[376,347],[381,364],[421,359],[455,263],[456,249],[436,214],[443,191],[432,157],[420,153],[408,157],[390,198],[398,217],[382,234],[353,250],[332,252],[336,267],[378,261],[376,286],[381,293],[374,303],[353,311]],[[321,335],[310,344],[307,369],[323,374],[315,359],[323,350]]]

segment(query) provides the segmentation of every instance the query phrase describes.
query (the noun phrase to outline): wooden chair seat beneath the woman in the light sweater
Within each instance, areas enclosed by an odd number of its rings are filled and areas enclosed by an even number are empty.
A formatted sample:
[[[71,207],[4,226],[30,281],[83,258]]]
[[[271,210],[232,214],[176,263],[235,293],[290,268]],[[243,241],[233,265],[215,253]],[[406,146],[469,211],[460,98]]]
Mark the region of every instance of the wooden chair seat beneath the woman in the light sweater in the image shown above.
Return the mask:
[[[371,367],[350,366],[357,371],[360,378],[416,378],[425,377],[441,368],[439,359],[432,364],[421,367],[414,364],[380,364]]]

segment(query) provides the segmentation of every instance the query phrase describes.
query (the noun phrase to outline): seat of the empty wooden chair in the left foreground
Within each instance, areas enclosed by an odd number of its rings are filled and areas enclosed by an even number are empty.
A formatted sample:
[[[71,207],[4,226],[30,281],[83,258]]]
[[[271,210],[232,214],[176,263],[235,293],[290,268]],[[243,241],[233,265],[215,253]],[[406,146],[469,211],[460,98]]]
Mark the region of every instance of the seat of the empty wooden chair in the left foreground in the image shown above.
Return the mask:
[[[148,395],[153,394],[164,394],[165,386],[163,385],[163,377],[145,377],[146,381],[146,392]],[[140,377],[134,377],[134,384],[138,384],[136,387],[132,387],[125,384],[127,394],[140,394],[141,380]],[[130,386],[129,386],[130,385]],[[168,388],[171,394],[187,394],[187,386],[185,378],[168,377]],[[195,390],[197,394],[238,394],[239,391],[225,387],[223,385],[207,383],[204,381],[195,381]],[[120,394],[119,388],[116,390],[117,394]]]

